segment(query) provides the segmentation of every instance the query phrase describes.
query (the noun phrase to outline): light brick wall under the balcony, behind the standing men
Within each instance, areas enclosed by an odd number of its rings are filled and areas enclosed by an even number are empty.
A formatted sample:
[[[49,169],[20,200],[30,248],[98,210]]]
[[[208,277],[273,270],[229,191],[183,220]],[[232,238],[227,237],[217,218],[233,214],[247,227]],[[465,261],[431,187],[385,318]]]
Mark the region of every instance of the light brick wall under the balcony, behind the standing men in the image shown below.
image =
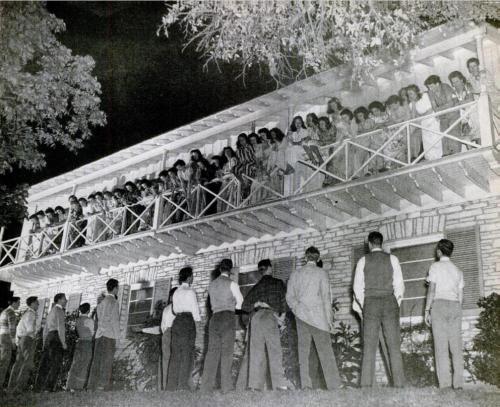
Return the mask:
[[[12,287],[15,294],[23,299],[28,295],[52,297],[57,292],[66,294],[82,292],[82,302],[95,305],[98,294],[104,290],[105,282],[111,276],[117,278],[120,283],[135,281],[145,276],[151,280],[172,278],[173,285],[176,285],[178,270],[189,264],[194,269],[194,288],[201,305],[202,318],[205,319],[210,272],[220,259],[232,257],[235,264],[240,266],[256,264],[258,260],[266,257],[273,259],[293,256],[298,258],[296,264],[300,268],[305,249],[314,245],[321,251],[324,268],[330,275],[333,296],[340,304],[338,318],[357,327],[357,320],[351,312],[354,268],[352,254],[353,247],[362,244],[369,231],[379,230],[384,234],[386,242],[390,242],[439,234],[444,230],[473,225],[479,226],[483,295],[489,295],[494,291],[500,291],[500,196],[360,221],[324,232],[296,233],[254,244],[211,250],[193,257],[177,256],[143,266],[123,268],[108,275],[86,275],[40,284],[30,290],[16,286],[15,282]],[[464,316],[463,328],[466,341],[470,341],[475,334],[476,315],[469,313]],[[201,336],[200,332],[198,335],[200,341]]]

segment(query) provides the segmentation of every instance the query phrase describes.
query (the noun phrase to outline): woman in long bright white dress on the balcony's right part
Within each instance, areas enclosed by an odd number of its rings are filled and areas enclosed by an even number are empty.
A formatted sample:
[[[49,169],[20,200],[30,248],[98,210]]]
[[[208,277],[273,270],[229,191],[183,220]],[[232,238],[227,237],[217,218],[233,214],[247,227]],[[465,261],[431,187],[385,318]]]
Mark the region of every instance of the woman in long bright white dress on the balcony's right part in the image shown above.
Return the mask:
[[[406,88],[410,101],[412,117],[427,116],[434,113],[432,103],[427,93],[421,93],[417,85],[410,85]],[[424,127],[422,130],[422,145],[426,160],[437,160],[443,156],[443,143],[436,132],[439,132],[439,121],[431,116],[420,121]]]

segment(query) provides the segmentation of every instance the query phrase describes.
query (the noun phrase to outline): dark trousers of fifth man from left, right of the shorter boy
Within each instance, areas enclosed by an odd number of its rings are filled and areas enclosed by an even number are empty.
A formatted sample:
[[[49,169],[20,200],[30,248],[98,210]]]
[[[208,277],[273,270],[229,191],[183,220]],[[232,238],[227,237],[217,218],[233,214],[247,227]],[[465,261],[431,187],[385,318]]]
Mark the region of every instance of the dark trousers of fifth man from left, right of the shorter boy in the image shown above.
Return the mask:
[[[87,389],[110,390],[113,373],[113,357],[116,350],[116,339],[101,336],[95,340],[94,358],[90,368]]]

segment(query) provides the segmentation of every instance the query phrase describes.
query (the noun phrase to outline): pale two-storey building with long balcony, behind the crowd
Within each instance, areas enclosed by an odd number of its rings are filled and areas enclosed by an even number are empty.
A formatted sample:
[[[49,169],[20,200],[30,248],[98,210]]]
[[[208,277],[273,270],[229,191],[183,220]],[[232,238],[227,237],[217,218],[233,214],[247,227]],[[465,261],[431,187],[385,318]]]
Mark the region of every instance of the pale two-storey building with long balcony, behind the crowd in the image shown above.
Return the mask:
[[[423,36],[407,65],[381,67],[373,83],[363,89],[346,86],[349,69],[341,66],[157,136],[33,186],[30,213],[49,206],[67,207],[69,195],[87,196],[111,191],[126,180],[156,178],[178,159],[188,161],[192,149],[209,156],[234,146],[243,131],[278,127],[286,132],[296,115],[326,114],[332,96],[355,108],[386,100],[409,84],[424,90],[423,82],[431,74],[443,82],[452,71],[467,76],[470,58],[477,58],[494,81],[494,73],[500,72],[498,30],[487,25],[468,30],[439,27]],[[33,232],[27,221],[19,238],[1,242],[0,279],[10,281],[15,295],[23,299],[29,295],[42,299],[40,324],[54,294],[65,292],[68,311],[73,311],[81,302],[94,306],[106,280],[118,279],[125,343],[127,333],[139,329],[155,304],[166,300],[181,267],[194,269],[194,288],[206,320],[208,283],[222,258],[233,259],[236,278],[245,292],[255,283],[252,272],[259,260],[270,258],[275,274],[286,281],[294,269],[302,267],[305,249],[314,245],[321,251],[339,303],[338,321],[358,326],[351,311],[353,271],[368,233],[378,230],[385,237],[385,250],[402,264],[406,286],[402,322],[418,323],[423,318],[425,277],[433,249],[439,239],[447,237],[455,243],[453,259],[464,272],[463,328],[470,341],[479,313],[477,300],[500,289],[500,151],[494,126],[498,106],[486,80],[482,86],[474,100],[426,116],[439,120],[446,113],[459,115],[450,128],[431,130],[439,136],[439,143],[458,140],[463,147],[456,154],[422,160],[426,158],[422,151],[420,157],[412,157],[411,139],[428,128],[423,119],[411,119],[344,141],[333,152],[324,148],[325,161],[337,165],[313,165],[299,159],[294,173],[281,174],[278,188],[269,179],[251,180],[251,193],[265,195],[262,200],[229,201],[221,192],[224,188],[211,193],[209,188],[195,187],[193,196],[201,194],[207,202],[222,203],[223,211],[192,210],[187,205],[189,197],[175,200],[169,192],[142,202],[140,210],[131,205],[116,215],[93,215],[92,222],[100,222],[100,236],[87,233],[90,217],[85,226],[68,217],[49,232]],[[467,118],[476,123],[475,141],[460,141],[453,132]],[[408,154],[395,158],[383,145],[363,143],[382,132],[387,143],[399,137],[405,140]],[[356,151],[365,152],[361,161],[354,159],[360,156]],[[376,159],[392,165],[388,171],[365,176],[364,169]],[[325,184],[328,177],[336,182]],[[182,220],[172,221],[176,213],[182,214]],[[128,223],[116,231],[113,222],[118,218]],[[113,232],[107,234],[107,230]],[[76,244],[78,239],[84,243]]]

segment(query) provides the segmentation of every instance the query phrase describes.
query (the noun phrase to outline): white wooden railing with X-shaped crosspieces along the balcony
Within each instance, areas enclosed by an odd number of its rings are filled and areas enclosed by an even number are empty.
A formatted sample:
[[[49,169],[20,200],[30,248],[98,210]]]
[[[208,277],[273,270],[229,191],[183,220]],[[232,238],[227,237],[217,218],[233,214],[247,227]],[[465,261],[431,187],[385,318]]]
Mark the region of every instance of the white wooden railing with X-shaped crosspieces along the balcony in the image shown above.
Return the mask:
[[[317,177],[322,177],[323,180],[348,182],[367,175],[367,169],[372,167],[377,160],[379,164],[384,163],[390,169],[416,165],[443,140],[460,143],[461,146],[465,146],[465,149],[480,148],[482,145],[478,143],[451,134],[460,123],[478,113],[478,105],[478,101],[466,103],[346,139],[340,144],[323,146],[321,149],[328,156],[321,165],[317,166],[305,160],[298,161],[301,168],[307,169],[308,173],[301,172],[298,168],[292,174],[281,174],[279,177],[277,174],[271,174],[258,179],[246,175],[236,177],[230,174],[208,184],[167,191],[158,196],[144,198],[133,205],[121,206],[83,219],[73,221],[68,219],[64,224],[49,226],[17,238],[3,240],[0,242],[0,267],[58,255],[83,246],[91,246],[136,233],[162,230],[172,224],[209,217],[215,213],[238,210],[262,203],[262,201],[279,200],[287,195],[310,192],[311,189],[308,188],[311,185],[318,185],[314,183]],[[444,131],[425,126],[426,119],[437,118],[439,120],[440,116],[451,112],[459,112],[459,117]],[[474,121],[479,126],[485,125],[477,119],[477,116]],[[478,132],[479,130],[475,129]],[[487,143],[483,142],[485,133],[483,130],[481,128],[481,140],[485,146]],[[419,133],[422,132],[436,137],[430,144],[425,145],[423,151],[418,151],[415,155],[410,146],[413,138],[421,137]],[[378,140],[378,144],[374,140]],[[404,146],[404,149],[399,149],[399,152],[404,154],[394,156],[388,153],[388,146],[394,141]],[[487,145],[491,145],[491,142]],[[375,171],[378,170],[376,166],[374,168]],[[283,183],[287,181],[287,178],[299,176],[303,179],[296,189],[283,189]],[[250,188],[245,189],[246,196],[242,195],[244,184],[250,185]]]

